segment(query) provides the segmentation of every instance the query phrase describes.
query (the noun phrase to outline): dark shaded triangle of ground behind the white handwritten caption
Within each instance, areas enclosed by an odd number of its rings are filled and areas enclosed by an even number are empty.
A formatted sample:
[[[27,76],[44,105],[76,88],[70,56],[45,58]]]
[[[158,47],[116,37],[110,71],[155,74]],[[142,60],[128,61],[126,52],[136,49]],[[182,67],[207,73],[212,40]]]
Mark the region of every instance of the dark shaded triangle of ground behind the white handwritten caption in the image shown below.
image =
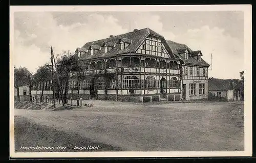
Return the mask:
[[[67,124],[68,125],[68,124]],[[15,152],[84,152],[84,151],[121,151],[121,148],[95,143],[90,139],[82,138],[75,132],[58,131],[52,127],[38,125],[27,118],[15,116]],[[75,146],[95,146],[98,149],[76,149]],[[21,147],[54,147],[54,149],[25,149]],[[60,149],[58,146],[66,147]]]

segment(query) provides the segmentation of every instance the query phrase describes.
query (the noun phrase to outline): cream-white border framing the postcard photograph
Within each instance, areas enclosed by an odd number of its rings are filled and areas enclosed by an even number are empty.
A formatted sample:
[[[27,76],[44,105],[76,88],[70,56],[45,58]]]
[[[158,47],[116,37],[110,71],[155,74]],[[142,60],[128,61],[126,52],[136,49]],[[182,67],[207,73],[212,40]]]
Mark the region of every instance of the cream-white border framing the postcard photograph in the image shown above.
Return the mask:
[[[244,147],[245,151],[233,152],[14,152],[14,12],[47,11],[243,11],[244,12]],[[158,6],[11,6],[10,7],[10,157],[214,157],[214,156],[251,156],[252,155],[252,18],[251,5],[158,5]]]

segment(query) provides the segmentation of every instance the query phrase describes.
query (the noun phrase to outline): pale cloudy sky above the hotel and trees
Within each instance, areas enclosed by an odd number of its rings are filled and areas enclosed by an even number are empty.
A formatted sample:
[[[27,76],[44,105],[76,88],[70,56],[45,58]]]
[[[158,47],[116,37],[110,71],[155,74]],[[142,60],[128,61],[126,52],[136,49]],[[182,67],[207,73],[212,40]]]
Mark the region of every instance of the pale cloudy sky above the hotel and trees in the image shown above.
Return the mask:
[[[15,12],[13,62],[35,73],[50,62],[50,46],[56,55],[74,52],[86,42],[143,28],[201,50],[209,64],[212,53],[208,77],[240,78],[244,70],[242,11]]]

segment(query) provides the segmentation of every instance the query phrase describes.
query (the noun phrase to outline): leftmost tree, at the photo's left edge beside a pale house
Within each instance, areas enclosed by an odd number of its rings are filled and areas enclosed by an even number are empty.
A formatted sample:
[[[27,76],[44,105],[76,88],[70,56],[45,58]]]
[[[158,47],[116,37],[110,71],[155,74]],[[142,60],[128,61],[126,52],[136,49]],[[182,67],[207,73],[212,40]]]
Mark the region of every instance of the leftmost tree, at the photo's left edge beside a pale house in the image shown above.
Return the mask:
[[[16,85],[15,86],[16,89],[17,89],[17,86],[28,86],[29,101],[32,101],[31,90],[32,90],[33,83],[34,83],[33,75],[31,72],[29,72],[29,70],[26,67],[19,67],[18,69],[14,68],[14,86]]]

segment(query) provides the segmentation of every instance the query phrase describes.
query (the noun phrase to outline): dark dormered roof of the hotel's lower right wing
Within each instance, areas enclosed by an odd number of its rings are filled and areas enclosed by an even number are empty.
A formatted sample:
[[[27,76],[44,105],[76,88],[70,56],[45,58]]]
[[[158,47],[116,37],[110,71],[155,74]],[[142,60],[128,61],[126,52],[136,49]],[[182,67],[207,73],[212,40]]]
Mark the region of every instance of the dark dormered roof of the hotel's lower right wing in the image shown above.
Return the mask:
[[[181,55],[179,55],[179,53],[182,53],[181,51],[184,51],[184,49],[188,50],[188,52],[190,53],[196,53],[193,50],[191,50],[187,45],[185,44],[180,44],[171,40],[166,40],[166,42],[168,43],[170,49],[172,50],[172,52],[174,53],[174,55],[177,55],[185,64],[192,64],[192,65],[197,65],[197,66],[206,66],[209,67],[210,65],[205,62],[202,58],[201,61],[198,61],[197,59],[193,58],[192,56],[189,56],[188,59],[183,58]],[[200,51],[200,50],[197,50]],[[200,51],[201,52],[201,51]],[[202,53],[201,53],[202,54]]]

